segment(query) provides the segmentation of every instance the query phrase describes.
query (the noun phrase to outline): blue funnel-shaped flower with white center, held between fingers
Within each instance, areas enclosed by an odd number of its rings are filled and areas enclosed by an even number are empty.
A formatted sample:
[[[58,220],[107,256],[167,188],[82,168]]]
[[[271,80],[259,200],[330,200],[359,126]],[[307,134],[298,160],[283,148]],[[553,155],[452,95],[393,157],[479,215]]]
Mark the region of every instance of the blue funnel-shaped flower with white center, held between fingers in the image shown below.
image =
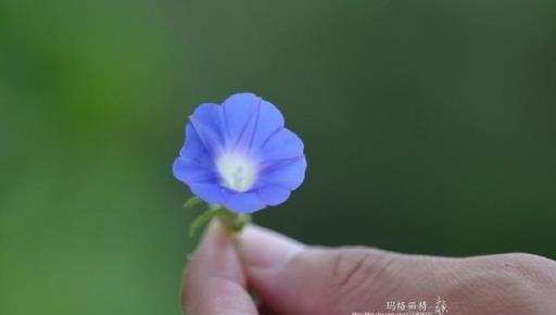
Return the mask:
[[[174,176],[208,203],[252,213],[285,202],[305,177],[303,141],[253,93],[199,105],[186,126]]]

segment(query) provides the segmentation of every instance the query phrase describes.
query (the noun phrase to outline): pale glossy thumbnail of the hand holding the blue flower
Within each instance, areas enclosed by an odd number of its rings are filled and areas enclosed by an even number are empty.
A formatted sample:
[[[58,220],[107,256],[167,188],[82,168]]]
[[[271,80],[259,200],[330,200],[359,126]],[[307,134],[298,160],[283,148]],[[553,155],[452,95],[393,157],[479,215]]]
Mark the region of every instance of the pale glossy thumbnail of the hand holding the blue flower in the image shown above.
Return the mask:
[[[238,250],[248,267],[280,268],[305,245],[257,226],[248,226],[238,237]]]

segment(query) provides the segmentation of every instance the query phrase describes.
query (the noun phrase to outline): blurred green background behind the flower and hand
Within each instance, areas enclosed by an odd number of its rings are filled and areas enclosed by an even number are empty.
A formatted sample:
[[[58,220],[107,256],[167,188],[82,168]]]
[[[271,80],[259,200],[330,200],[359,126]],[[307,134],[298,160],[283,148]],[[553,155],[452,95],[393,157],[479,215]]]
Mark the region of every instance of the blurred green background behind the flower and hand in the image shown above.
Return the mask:
[[[556,259],[555,1],[0,0],[0,314],[179,314],[170,165],[238,91],[308,159],[260,224]]]

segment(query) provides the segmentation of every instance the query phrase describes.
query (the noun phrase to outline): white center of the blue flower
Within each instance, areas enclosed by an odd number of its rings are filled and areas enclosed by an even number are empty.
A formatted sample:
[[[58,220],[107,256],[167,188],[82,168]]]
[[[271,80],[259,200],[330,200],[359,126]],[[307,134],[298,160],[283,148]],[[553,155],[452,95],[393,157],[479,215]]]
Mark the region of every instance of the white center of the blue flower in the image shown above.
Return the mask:
[[[239,192],[248,191],[256,179],[255,164],[237,153],[224,153],[216,161],[224,186]]]

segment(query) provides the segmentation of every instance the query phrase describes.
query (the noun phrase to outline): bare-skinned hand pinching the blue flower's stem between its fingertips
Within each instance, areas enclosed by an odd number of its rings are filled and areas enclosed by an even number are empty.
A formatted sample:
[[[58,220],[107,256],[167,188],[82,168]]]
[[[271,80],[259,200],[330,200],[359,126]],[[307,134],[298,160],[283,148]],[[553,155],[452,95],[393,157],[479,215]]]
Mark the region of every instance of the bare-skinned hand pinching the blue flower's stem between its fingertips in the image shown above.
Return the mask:
[[[311,247],[253,225],[227,235],[212,223],[188,266],[182,308],[351,315],[388,313],[387,301],[427,301],[432,313],[438,295],[447,314],[554,314],[556,262],[525,253],[448,259]]]

